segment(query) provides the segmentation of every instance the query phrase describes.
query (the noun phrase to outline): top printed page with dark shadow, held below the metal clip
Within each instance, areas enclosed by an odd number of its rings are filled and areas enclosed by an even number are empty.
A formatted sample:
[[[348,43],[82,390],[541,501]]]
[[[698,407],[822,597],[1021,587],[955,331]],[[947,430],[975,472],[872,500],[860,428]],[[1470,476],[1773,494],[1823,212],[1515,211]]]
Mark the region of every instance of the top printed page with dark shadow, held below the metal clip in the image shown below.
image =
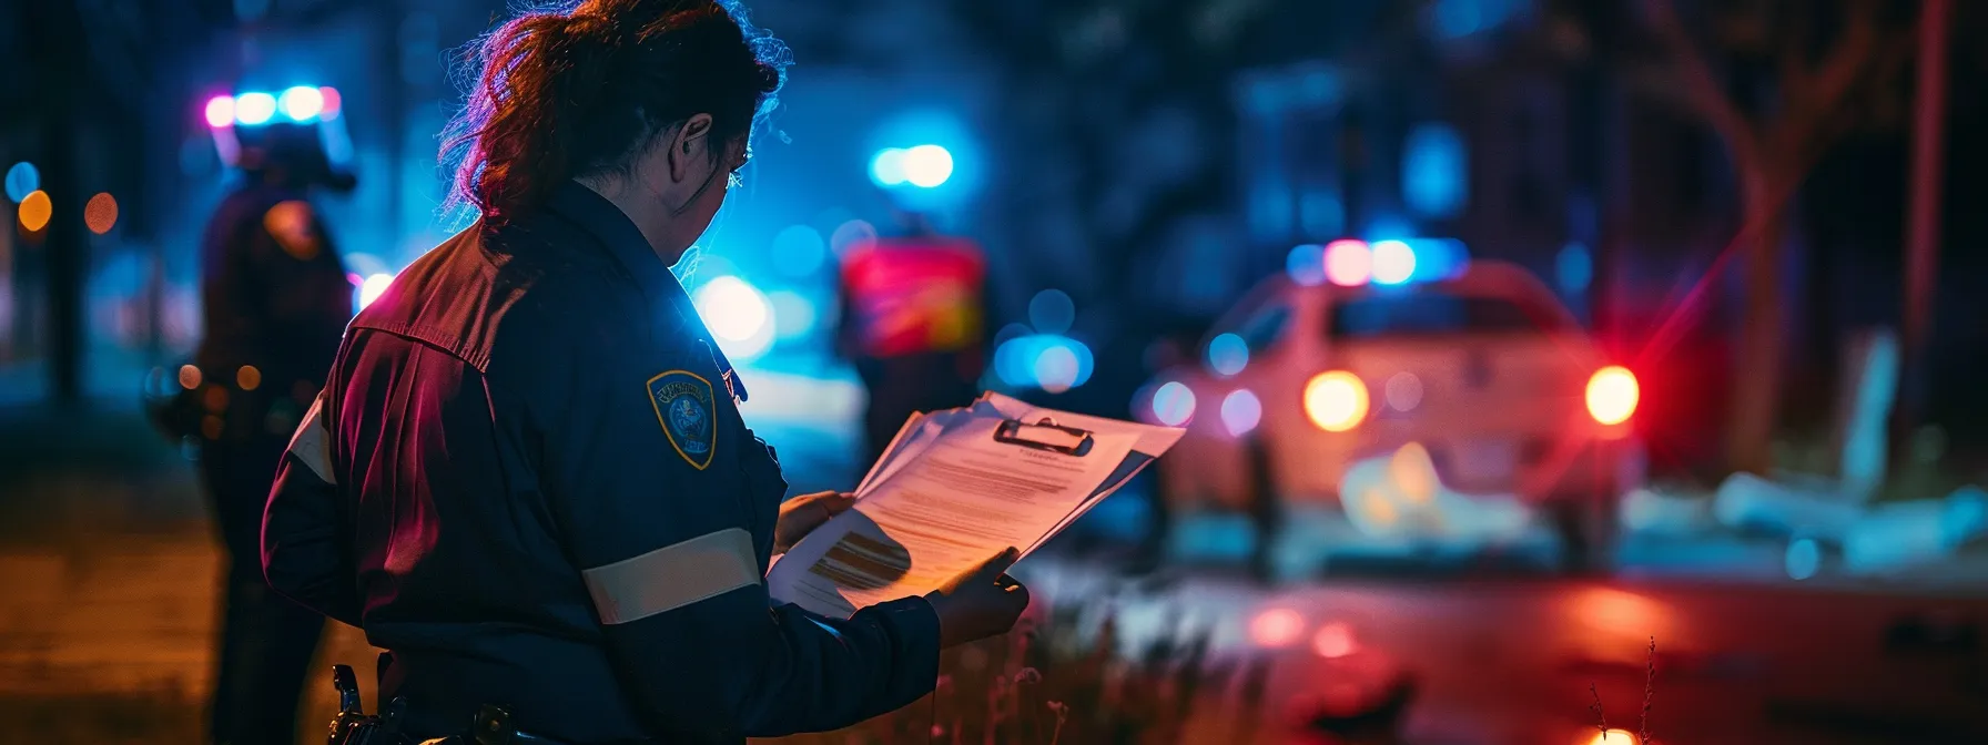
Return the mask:
[[[968,417],[873,485],[767,572],[775,600],[823,616],[936,590],[1002,548],[1032,548],[1083,505],[1137,439],[1093,433],[1085,455],[998,441]]]

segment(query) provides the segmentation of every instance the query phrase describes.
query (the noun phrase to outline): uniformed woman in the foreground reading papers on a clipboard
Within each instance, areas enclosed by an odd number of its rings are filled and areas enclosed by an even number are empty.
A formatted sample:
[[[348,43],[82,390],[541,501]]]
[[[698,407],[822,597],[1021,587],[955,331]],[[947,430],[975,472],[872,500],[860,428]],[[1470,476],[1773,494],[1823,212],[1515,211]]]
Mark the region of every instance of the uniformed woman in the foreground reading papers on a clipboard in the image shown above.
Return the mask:
[[[262,528],[270,584],[392,654],[406,731],[483,703],[565,743],[851,725],[1006,632],[1012,550],[849,620],[773,606],[769,554],[847,507],[779,505],[746,389],[668,266],[779,85],[714,0],[586,0],[483,44],[453,145],[481,221],[348,328]]]

